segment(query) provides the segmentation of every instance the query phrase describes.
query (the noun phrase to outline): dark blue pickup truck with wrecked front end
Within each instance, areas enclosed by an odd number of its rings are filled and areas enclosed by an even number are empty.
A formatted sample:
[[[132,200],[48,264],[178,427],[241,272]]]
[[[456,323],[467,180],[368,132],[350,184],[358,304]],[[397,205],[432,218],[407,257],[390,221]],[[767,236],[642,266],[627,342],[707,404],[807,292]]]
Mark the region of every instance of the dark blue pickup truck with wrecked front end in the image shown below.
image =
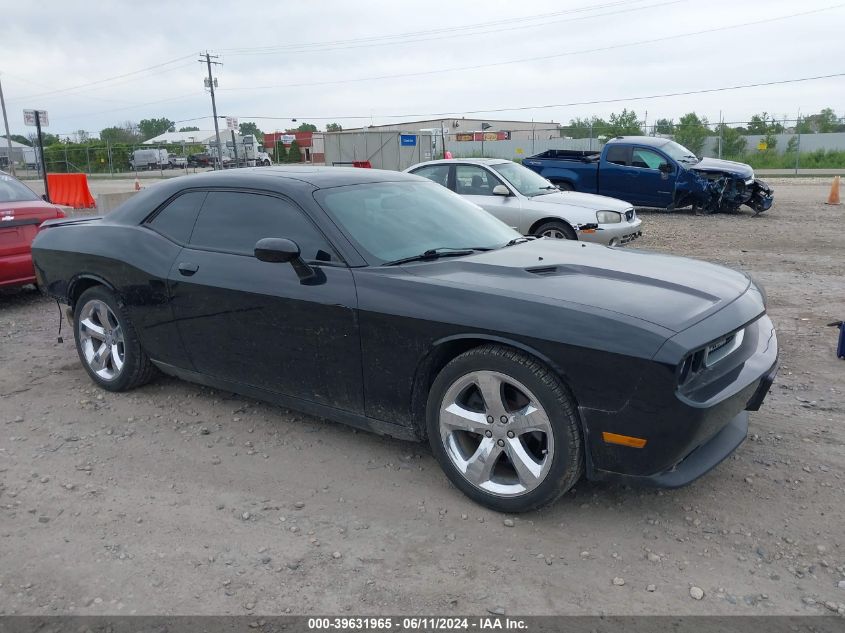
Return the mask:
[[[597,193],[641,207],[692,206],[714,213],[772,206],[771,188],[744,163],[698,158],[675,141],[618,136],[601,152],[550,149],[522,161],[560,189]]]

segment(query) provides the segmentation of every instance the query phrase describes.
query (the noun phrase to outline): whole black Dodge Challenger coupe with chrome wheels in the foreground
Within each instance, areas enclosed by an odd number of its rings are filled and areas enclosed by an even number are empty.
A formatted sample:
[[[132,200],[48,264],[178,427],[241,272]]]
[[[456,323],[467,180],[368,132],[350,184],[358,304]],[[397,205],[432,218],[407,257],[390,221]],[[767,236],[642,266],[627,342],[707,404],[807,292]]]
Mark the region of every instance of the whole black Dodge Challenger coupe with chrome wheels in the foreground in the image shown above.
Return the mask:
[[[743,441],[777,370],[749,277],[526,238],[403,173],[173,178],[105,218],[45,223],[33,255],[104,389],[158,368],[427,439],[455,486],[505,512],[585,472],[693,481]]]

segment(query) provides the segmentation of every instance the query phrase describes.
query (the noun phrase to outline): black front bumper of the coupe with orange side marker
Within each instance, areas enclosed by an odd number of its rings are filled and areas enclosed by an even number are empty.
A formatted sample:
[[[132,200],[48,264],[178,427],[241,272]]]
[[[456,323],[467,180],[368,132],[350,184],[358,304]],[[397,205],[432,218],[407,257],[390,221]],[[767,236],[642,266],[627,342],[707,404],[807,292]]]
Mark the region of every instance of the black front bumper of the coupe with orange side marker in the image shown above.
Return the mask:
[[[673,368],[665,366],[662,374],[661,365],[656,365],[654,375],[639,381],[622,409],[582,408],[588,478],[677,487],[730,455],[745,438],[746,412],[760,408],[777,374],[778,346],[771,320],[763,315],[744,331],[736,360],[726,357],[723,366],[707,370],[690,389],[672,387]],[[612,445],[604,441],[605,432],[647,442],[642,448]]]

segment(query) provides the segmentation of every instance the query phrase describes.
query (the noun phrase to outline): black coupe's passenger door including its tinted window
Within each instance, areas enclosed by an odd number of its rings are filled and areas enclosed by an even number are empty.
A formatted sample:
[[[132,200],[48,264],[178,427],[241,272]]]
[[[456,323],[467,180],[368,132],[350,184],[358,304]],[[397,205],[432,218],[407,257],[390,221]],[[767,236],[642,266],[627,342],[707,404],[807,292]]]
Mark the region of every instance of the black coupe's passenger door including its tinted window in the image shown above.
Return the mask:
[[[256,259],[266,237],[295,241],[317,276],[304,281],[291,264]],[[209,191],[169,281],[196,371],[363,412],[352,274],[293,201]]]

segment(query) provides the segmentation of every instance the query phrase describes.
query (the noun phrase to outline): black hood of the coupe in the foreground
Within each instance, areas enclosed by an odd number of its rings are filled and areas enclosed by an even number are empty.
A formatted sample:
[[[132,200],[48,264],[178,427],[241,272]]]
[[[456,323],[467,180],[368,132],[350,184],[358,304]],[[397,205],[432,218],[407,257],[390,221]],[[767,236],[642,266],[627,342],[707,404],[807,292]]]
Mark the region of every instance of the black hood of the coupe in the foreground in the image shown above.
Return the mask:
[[[721,310],[751,283],[742,273],[698,260],[552,239],[405,269],[516,300],[590,306],[672,332]]]

